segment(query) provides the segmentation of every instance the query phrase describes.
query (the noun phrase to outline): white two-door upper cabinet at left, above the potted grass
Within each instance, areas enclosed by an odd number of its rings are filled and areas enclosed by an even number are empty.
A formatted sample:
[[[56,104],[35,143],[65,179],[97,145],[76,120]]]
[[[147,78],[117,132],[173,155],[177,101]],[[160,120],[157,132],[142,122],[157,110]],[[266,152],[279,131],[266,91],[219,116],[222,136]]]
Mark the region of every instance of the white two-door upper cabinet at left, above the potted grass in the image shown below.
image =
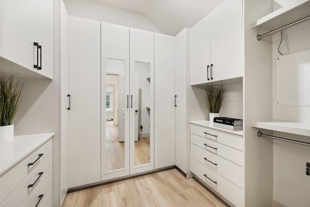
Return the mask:
[[[1,0],[1,57],[53,79],[53,8],[53,0]]]

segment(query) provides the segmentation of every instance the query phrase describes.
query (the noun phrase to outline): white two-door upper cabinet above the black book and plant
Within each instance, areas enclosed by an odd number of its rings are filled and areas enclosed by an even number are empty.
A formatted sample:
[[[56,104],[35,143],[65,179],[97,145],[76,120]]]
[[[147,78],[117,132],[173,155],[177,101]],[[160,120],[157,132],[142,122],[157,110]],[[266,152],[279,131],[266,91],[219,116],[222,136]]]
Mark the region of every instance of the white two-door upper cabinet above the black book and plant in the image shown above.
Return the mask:
[[[242,0],[225,0],[191,28],[191,85],[243,76],[242,31]]]

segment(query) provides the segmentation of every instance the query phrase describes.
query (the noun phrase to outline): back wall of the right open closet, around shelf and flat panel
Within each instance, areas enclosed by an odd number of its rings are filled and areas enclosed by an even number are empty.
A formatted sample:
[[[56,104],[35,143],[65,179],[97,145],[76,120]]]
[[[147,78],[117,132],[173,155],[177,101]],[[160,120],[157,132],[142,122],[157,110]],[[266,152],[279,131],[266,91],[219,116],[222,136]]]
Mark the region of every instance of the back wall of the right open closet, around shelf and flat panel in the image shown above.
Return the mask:
[[[285,6],[288,0],[274,0],[275,3]],[[275,10],[275,7],[274,7]],[[303,22],[283,31],[283,40],[280,51],[283,54],[301,51],[310,48],[310,21]],[[273,71],[275,71],[275,58],[280,56],[278,52],[280,32],[273,35]],[[288,43],[288,44],[287,44]],[[309,89],[310,90],[310,89]],[[275,96],[273,96],[275,97]],[[273,98],[273,118],[288,121],[300,121],[310,123],[309,106],[278,106]],[[288,139],[309,142],[309,137],[294,134],[277,133]],[[310,176],[305,173],[306,162],[310,162],[310,147],[293,143],[274,141],[273,144],[273,198],[282,205],[288,207],[306,207],[310,205]]]

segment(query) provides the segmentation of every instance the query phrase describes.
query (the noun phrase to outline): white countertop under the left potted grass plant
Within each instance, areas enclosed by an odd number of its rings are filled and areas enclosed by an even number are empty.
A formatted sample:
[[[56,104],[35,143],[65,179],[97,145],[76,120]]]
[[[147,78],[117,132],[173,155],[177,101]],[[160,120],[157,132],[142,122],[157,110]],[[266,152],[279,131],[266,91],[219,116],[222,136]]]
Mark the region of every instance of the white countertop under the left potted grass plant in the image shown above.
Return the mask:
[[[55,133],[15,136],[14,142],[0,144],[0,175],[54,135]]]

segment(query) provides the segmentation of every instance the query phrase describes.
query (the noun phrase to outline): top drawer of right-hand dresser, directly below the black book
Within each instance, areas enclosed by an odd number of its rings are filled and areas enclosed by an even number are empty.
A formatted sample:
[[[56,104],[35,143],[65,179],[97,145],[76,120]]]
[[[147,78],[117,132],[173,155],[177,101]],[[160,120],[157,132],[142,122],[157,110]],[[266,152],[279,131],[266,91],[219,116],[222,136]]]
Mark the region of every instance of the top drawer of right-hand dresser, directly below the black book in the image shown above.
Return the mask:
[[[209,140],[225,144],[240,151],[243,151],[243,137],[235,134],[219,131],[216,129],[202,127],[199,125],[190,125],[190,132]]]

